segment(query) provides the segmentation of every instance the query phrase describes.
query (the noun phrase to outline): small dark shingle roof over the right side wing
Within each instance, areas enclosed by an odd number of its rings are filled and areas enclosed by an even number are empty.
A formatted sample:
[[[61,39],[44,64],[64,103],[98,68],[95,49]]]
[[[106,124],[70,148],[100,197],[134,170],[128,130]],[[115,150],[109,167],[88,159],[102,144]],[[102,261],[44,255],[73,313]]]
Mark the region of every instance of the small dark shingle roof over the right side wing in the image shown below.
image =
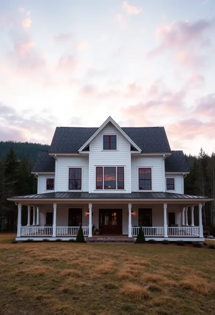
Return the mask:
[[[165,158],[165,172],[190,172],[183,151],[171,151],[172,154]]]

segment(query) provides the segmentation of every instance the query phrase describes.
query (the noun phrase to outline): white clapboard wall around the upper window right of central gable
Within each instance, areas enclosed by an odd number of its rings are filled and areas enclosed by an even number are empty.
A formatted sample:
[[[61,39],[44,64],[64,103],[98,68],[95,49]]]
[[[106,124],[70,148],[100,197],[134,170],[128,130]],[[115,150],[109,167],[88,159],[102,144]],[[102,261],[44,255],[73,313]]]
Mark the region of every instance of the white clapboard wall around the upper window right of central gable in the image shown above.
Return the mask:
[[[144,157],[144,156],[132,156],[131,157],[131,181],[132,181],[132,192],[139,189],[137,186],[138,180],[138,169],[152,168],[152,190],[155,192],[164,191],[164,173],[163,173],[163,157]]]

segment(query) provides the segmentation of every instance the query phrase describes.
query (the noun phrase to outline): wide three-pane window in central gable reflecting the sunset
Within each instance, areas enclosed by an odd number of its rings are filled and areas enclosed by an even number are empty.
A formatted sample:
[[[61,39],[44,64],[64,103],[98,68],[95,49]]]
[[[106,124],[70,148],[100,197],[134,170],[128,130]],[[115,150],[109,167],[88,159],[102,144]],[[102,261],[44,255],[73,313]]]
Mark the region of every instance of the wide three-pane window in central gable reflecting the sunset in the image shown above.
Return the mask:
[[[124,189],[124,167],[97,167],[96,189]]]

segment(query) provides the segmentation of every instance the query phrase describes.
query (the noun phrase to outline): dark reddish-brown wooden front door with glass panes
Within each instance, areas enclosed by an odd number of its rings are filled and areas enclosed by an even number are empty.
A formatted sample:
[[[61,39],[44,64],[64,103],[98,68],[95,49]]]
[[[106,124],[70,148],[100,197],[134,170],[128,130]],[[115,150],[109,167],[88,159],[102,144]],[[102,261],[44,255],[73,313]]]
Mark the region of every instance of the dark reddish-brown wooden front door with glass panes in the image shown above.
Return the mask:
[[[101,234],[122,234],[122,209],[99,209]]]

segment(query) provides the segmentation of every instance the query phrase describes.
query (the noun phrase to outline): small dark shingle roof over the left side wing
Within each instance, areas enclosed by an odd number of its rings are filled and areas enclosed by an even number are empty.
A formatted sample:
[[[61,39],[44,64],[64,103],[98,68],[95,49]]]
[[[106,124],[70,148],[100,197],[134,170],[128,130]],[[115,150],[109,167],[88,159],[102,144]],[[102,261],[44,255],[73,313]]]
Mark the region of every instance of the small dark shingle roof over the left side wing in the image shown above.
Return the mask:
[[[55,159],[49,155],[48,151],[38,151],[32,172],[54,172]]]

